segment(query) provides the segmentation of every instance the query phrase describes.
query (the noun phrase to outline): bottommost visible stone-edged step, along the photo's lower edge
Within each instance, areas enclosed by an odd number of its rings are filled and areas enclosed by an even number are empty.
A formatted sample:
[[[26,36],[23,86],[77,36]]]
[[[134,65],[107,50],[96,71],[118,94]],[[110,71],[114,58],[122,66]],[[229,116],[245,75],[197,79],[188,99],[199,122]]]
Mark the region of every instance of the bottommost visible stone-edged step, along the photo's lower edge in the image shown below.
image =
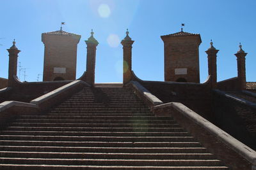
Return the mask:
[[[226,166],[69,166],[69,165],[44,165],[42,164],[0,164],[0,168],[11,168],[12,170],[28,170],[28,169],[172,169],[172,170],[217,170],[228,169]]]

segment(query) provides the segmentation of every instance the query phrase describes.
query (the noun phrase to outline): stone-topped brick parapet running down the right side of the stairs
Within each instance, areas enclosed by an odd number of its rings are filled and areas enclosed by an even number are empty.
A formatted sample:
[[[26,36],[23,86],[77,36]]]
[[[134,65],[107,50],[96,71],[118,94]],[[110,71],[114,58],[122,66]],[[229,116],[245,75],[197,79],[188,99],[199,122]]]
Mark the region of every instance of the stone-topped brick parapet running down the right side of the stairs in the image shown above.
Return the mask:
[[[156,96],[136,81],[127,84],[151,107],[157,117],[173,117],[182,127],[225,165],[232,169],[256,169],[256,152],[221,130],[182,103],[161,104]]]

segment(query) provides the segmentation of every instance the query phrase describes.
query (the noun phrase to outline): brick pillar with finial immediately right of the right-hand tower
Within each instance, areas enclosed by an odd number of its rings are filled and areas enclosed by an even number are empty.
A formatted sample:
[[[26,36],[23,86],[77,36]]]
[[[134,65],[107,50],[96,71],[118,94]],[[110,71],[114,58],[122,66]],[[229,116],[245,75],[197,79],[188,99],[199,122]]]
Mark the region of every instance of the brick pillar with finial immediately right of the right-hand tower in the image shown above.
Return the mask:
[[[208,55],[208,74],[211,76],[211,88],[216,89],[217,87],[217,64],[216,64],[216,58],[217,53],[219,50],[216,50],[214,46],[212,46],[211,41],[210,48],[206,51]]]

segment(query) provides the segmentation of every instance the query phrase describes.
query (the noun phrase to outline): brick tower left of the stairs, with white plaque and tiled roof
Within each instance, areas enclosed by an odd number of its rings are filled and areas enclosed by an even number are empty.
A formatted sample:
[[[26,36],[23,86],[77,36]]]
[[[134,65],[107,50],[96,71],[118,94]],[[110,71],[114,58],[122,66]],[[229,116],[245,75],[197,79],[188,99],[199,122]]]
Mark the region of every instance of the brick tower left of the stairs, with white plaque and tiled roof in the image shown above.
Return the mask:
[[[42,34],[44,43],[43,81],[75,80],[77,43],[81,36],[54,31]]]

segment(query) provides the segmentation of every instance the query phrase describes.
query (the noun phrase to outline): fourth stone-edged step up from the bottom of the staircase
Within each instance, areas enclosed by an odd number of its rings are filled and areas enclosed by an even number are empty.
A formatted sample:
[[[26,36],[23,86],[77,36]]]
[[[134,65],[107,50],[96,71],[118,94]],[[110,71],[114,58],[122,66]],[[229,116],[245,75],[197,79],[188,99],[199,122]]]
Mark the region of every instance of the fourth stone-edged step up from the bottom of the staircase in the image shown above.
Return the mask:
[[[74,147],[74,146],[0,146],[1,151],[12,152],[93,152],[93,153],[207,153],[204,147],[189,148],[135,148],[135,147]]]

